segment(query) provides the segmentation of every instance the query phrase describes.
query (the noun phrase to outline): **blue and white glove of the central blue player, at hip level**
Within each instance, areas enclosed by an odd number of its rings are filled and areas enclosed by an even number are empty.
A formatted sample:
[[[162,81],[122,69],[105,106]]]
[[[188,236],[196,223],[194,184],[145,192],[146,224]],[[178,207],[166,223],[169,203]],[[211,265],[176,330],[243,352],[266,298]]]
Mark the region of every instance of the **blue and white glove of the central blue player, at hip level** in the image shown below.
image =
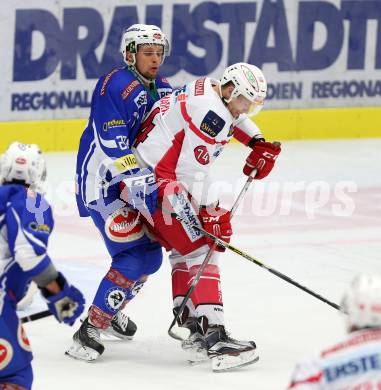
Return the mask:
[[[158,186],[155,175],[150,168],[134,169],[131,175],[120,182],[120,198],[128,206],[140,211],[143,215],[153,214],[157,209]]]

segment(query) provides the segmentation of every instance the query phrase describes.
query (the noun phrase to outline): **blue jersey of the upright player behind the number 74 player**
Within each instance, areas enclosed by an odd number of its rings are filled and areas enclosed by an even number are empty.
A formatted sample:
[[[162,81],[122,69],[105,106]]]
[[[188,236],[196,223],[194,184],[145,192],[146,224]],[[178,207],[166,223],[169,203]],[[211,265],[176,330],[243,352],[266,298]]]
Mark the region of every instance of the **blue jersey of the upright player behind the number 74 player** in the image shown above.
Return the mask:
[[[77,155],[76,195],[81,216],[101,199],[113,177],[137,168],[131,146],[144,116],[171,86],[157,77],[147,89],[128,67],[117,68],[98,80],[91,113]]]

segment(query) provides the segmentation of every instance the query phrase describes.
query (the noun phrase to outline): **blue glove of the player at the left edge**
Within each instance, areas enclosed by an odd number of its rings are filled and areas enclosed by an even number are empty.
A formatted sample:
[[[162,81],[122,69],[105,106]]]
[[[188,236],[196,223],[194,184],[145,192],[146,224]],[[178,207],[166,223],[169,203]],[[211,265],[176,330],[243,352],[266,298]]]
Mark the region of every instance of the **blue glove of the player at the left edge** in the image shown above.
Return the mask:
[[[43,297],[46,299],[48,308],[56,317],[58,322],[73,325],[75,320],[82,314],[85,298],[82,293],[68,284],[65,277],[59,272],[57,283],[61,288],[58,294],[52,295],[46,288],[40,288]]]

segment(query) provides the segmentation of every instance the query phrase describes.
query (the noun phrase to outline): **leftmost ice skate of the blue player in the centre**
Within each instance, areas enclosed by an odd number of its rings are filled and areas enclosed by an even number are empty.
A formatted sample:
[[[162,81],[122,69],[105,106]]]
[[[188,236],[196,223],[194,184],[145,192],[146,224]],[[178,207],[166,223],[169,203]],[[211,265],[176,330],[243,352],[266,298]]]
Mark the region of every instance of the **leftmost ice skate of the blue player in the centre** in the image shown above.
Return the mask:
[[[92,362],[102,355],[104,349],[100,340],[100,330],[91,325],[86,318],[74,333],[73,344],[65,353],[74,359]]]

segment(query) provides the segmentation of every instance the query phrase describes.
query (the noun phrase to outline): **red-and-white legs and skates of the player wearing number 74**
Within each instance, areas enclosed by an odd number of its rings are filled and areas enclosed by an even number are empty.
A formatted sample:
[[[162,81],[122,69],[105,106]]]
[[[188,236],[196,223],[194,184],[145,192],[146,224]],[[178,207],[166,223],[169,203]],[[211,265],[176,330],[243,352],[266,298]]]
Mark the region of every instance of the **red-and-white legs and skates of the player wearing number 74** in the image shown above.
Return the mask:
[[[175,311],[209,251],[204,237],[197,235],[185,223],[170,217],[171,211],[174,211],[191,224],[201,225],[198,210],[189,198],[181,185],[173,185],[170,189],[167,186],[164,195],[163,191],[159,192],[163,212],[157,212],[153,216],[153,233],[161,238],[167,248],[175,249],[170,256]],[[253,341],[235,340],[225,331],[219,255],[217,251],[212,254],[179,322],[180,326],[186,326],[191,331],[189,339],[182,343],[184,349],[191,352],[197,360],[208,357],[214,363],[217,359],[221,360],[222,355],[236,356],[236,359],[229,358],[229,362],[226,362],[225,357],[224,364],[219,362],[219,367],[229,369],[250,364],[257,360],[257,356]]]

